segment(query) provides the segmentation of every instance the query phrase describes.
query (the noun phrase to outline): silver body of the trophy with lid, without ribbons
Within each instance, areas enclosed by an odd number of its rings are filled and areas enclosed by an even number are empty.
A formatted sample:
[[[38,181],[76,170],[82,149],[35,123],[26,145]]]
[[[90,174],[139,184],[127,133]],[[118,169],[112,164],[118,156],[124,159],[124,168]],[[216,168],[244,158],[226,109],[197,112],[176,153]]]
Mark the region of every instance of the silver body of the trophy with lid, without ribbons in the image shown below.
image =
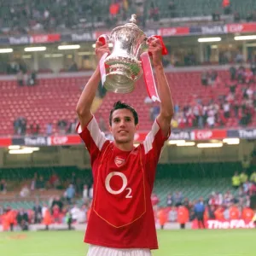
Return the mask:
[[[148,38],[136,25],[136,15],[124,26],[113,29],[108,43],[113,44],[111,55],[105,59],[106,80],[103,86],[116,93],[129,93],[143,73],[140,55],[148,50]]]

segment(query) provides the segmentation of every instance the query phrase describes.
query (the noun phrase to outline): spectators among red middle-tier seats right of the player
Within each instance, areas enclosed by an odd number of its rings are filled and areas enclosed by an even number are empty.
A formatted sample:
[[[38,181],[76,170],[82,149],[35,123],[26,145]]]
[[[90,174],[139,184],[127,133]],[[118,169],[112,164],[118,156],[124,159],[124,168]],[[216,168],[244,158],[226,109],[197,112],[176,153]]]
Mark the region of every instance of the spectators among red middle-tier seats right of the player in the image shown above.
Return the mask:
[[[253,67],[254,68],[254,67]],[[222,80],[214,70],[201,73],[201,84],[211,88],[211,98],[202,100],[194,96],[186,106],[176,104],[172,119],[173,128],[216,128],[224,127],[230,119],[237,125],[247,126],[252,123],[256,110],[255,70],[244,67],[231,67],[230,79]],[[216,95],[219,87],[229,89],[228,94]],[[151,119],[159,113],[157,107],[151,108]]]

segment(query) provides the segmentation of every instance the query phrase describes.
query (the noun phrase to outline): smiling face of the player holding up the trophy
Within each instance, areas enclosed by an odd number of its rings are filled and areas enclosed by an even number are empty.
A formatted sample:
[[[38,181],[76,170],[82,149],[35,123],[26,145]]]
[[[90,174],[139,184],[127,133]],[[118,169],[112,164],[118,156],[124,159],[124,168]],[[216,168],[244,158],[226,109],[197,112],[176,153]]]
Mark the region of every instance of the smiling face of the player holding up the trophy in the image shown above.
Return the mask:
[[[116,143],[131,143],[137,131],[133,114],[129,109],[113,111],[112,125],[109,127]]]

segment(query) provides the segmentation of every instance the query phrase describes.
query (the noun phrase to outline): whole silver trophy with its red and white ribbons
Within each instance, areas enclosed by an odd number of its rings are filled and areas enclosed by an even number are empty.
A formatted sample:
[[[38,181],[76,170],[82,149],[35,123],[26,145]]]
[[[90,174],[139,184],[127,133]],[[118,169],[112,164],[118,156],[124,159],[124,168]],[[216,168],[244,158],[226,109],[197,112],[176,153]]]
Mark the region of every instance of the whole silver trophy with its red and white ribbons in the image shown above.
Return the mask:
[[[130,22],[114,28],[109,37],[98,38],[102,44],[113,44],[112,53],[103,55],[100,61],[102,85],[109,91],[129,93],[144,73],[148,95],[160,101],[148,55],[148,38],[136,22],[136,15],[131,15]]]

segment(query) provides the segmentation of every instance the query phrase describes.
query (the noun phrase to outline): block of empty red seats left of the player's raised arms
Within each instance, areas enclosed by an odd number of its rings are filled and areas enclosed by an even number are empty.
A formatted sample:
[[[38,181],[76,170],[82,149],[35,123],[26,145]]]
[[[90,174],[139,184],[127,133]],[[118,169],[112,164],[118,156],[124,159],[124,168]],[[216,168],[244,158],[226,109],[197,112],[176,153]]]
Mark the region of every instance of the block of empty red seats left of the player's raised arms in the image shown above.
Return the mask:
[[[0,135],[13,134],[14,120],[20,116],[27,119],[27,128],[38,121],[41,133],[49,122],[54,125],[60,119],[73,121],[75,108],[86,78],[39,79],[35,87],[18,87],[15,81],[1,81],[1,110],[3,125]]]

